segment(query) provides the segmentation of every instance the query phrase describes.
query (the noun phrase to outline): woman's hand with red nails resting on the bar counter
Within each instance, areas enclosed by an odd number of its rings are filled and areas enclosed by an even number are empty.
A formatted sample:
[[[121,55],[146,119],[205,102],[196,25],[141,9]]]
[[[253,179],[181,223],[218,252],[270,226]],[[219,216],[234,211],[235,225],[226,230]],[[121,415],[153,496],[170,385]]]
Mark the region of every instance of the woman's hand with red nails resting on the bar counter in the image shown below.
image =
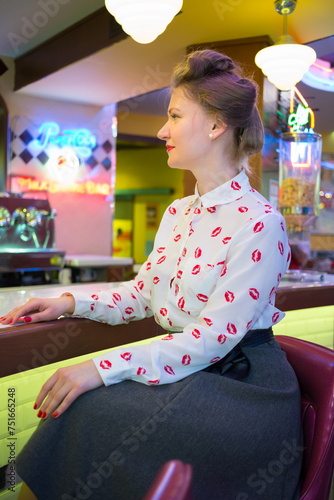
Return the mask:
[[[18,320],[26,323],[37,321],[50,321],[57,319],[62,314],[73,314],[75,300],[72,294],[65,293],[56,299],[28,300],[23,306],[18,306],[9,311],[6,316],[0,318],[3,325],[15,324]]]

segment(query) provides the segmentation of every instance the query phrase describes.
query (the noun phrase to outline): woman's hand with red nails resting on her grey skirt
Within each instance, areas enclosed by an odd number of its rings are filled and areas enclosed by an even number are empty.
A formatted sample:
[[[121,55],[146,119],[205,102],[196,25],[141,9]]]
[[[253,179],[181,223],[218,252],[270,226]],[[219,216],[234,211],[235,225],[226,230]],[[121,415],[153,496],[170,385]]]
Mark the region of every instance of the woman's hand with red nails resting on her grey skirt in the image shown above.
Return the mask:
[[[43,385],[34,409],[40,418],[60,417],[81,394],[103,385],[92,360],[59,368]]]

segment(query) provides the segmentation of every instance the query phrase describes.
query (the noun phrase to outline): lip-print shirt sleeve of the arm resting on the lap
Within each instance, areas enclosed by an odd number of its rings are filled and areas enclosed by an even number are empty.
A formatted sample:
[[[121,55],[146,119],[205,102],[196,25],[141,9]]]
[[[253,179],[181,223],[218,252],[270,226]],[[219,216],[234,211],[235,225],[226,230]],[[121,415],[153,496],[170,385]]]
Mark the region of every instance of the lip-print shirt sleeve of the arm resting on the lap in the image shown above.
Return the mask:
[[[202,311],[182,332],[93,359],[105,385],[125,379],[149,385],[177,382],[219,361],[254,326],[276,323],[284,314],[274,306],[275,290],[289,259],[281,216],[250,219],[219,263],[221,272],[210,297],[199,294],[198,300],[205,302]],[[261,325],[264,311],[270,320]]]

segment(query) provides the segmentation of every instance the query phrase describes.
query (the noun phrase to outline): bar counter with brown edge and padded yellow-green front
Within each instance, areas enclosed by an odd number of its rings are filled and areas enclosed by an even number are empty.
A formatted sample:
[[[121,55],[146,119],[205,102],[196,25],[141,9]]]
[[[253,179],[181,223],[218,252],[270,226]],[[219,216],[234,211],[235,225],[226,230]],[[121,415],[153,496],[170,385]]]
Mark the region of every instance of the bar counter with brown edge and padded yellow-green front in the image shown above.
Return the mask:
[[[0,292],[0,316],[30,297],[57,297],[65,290],[89,292],[117,286],[117,283],[11,288]],[[282,281],[276,295],[277,307],[285,318],[274,333],[290,335],[333,348],[334,283]],[[119,345],[150,342],[164,332],[153,318],[110,326],[82,318],[21,324],[0,328],[0,500],[17,500],[5,486],[8,464],[7,402],[15,400],[15,452],[18,454],[39,424],[33,404],[42,384],[60,367],[90,359]]]

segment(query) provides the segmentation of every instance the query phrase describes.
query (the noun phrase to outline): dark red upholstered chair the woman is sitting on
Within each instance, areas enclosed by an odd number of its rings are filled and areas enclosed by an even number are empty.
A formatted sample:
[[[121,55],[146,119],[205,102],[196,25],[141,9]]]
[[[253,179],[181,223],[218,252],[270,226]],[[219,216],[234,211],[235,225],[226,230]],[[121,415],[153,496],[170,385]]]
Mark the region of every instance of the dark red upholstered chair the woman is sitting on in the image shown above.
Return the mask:
[[[334,469],[334,351],[276,335],[302,394],[304,456],[300,500],[328,500]]]

